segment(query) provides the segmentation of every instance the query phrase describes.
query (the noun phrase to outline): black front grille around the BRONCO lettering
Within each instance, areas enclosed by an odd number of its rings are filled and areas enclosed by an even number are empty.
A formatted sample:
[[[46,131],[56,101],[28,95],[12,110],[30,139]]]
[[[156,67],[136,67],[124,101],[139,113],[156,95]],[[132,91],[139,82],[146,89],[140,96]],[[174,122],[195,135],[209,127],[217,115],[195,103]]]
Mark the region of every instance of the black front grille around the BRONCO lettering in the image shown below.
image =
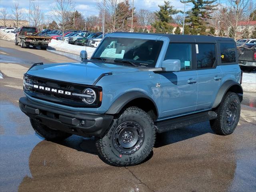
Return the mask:
[[[82,101],[82,97],[80,96],[74,96],[74,95],[68,95],[68,94],[60,94],[58,93],[58,90],[70,93],[77,93],[82,94],[83,91],[86,88],[91,88],[96,92],[96,97],[99,98],[100,91],[102,91],[102,88],[99,86],[90,86],[90,85],[82,85],[82,84],[74,84],[70,82],[62,82],[57,80],[50,80],[46,78],[39,78],[35,76],[30,76],[28,74],[24,75],[24,78],[26,79],[26,82],[28,84],[37,85],[38,88],[34,88],[32,86],[26,86],[26,89],[24,89],[24,92],[34,98],[46,100],[49,102],[54,102],[58,104],[63,104],[67,106],[73,106],[73,107],[89,107],[89,108],[96,108],[101,105],[101,102],[96,99],[96,101],[93,104],[86,104]],[[39,86],[44,87],[43,89],[40,89]],[[50,90],[54,89],[57,90],[57,92],[47,91],[45,88],[50,88]]]

